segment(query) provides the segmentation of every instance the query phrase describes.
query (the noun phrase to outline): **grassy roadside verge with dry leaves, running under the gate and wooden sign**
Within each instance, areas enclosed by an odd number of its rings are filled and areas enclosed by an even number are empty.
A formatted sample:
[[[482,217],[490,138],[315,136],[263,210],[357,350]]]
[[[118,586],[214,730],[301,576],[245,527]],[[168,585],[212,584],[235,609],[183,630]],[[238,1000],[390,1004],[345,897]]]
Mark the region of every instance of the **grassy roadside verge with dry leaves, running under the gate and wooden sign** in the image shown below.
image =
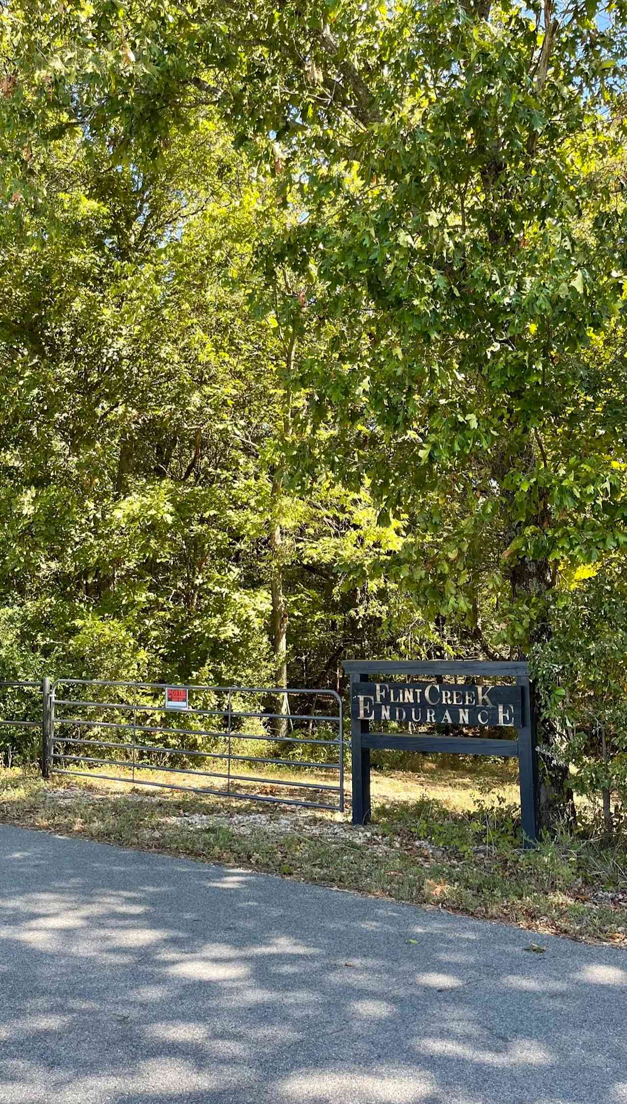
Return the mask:
[[[263,788],[272,793],[272,773]],[[425,761],[418,775],[376,772],[372,800],[374,822],[363,829],[350,825],[350,813],[147,792],[93,778],[44,783],[0,771],[4,824],[627,946],[627,842],[604,847],[588,830],[520,850],[510,764],[448,769]]]

